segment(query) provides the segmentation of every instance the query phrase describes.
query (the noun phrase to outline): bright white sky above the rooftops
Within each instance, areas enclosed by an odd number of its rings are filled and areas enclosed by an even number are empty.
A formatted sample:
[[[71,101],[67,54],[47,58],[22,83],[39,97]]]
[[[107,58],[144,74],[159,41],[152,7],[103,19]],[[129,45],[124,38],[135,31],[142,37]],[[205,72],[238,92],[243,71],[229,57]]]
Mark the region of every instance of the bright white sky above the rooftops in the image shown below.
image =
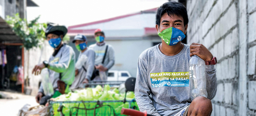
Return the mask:
[[[40,15],[39,22],[65,26],[84,24],[160,7],[168,0],[33,0],[39,7],[27,7],[27,19]]]

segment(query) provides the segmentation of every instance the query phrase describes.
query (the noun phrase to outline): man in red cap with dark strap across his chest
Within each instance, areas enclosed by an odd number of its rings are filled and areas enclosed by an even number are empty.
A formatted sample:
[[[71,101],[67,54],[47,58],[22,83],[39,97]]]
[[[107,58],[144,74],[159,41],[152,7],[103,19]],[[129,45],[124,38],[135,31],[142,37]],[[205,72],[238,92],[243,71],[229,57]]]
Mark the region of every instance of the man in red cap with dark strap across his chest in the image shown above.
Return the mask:
[[[89,46],[89,48],[92,48],[95,51],[95,68],[98,69],[100,72],[105,72],[107,75],[108,70],[115,63],[114,49],[111,45],[105,43],[105,35],[104,32],[101,31],[101,29],[95,30],[94,38],[96,39],[97,43],[92,44],[91,46]],[[97,76],[95,77],[95,80],[102,79]],[[106,80],[106,78],[104,78],[103,80]]]

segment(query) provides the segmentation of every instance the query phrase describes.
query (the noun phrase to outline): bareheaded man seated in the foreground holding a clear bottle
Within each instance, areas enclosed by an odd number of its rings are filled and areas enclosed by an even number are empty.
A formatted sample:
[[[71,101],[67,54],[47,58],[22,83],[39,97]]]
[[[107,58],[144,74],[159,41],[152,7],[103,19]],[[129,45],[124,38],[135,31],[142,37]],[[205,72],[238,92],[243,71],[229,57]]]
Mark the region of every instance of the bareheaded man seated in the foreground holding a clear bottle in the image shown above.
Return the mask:
[[[164,3],[157,10],[156,30],[162,43],[146,49],[138,59],[135,97],[140,111],[156,116],[210,116],[217,90],[214,64],[206,65],[206,97],[190,98],[189,60],[193,55],[216,60],[202,44],[181,43],[188,27],[186,7]]]

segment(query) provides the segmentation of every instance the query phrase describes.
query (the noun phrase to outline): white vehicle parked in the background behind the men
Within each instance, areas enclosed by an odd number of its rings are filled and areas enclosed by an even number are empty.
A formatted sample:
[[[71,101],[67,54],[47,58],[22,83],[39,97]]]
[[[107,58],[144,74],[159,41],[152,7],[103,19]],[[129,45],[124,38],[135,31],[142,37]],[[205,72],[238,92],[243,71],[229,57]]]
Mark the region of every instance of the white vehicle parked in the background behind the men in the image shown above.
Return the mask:
[[[108,71],[108,81],[125,81],[129,77],[131,77],[131,74],[128,71]]]

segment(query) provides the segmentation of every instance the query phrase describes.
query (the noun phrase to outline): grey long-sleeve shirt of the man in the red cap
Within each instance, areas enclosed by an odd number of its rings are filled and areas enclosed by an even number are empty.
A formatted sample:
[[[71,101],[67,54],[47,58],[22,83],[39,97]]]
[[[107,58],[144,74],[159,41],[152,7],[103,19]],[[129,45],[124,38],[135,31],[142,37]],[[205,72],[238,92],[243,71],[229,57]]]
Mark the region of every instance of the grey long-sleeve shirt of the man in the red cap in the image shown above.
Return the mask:
[[[105,50],[107,45],[108,45],[108,50],[106,53],[106,58],[105,58],[104,64],[102,64],[102,60],[105,55]],[[103,65],[103,67],[106,67],[108,69],[113,67],[115,63],[115,52],[111,45],[104,44],[102,46],[98,46],[97,44],[92,44],[91,46],[89,46],[89,48],[92,48],[95,51],[95,65]]]

